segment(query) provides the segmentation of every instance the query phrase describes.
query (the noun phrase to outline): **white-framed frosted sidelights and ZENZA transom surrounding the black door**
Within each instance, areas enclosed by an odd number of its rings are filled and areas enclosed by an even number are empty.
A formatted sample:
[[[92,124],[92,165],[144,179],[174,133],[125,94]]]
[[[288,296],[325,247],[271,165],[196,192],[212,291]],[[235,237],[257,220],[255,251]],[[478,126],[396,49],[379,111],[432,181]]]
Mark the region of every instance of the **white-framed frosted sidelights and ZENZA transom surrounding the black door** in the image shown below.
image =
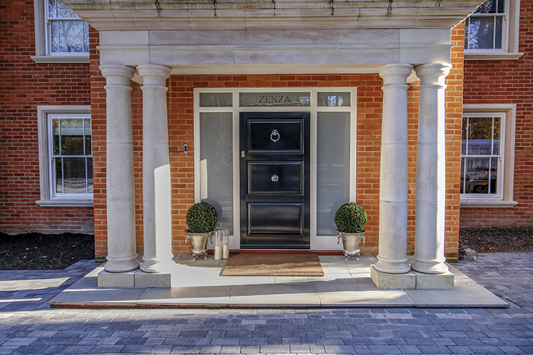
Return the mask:
[[[220,226],[230,230],[233,248],[239,248],[241,229],[239,161],[246,154],[239,148],[239,137],[244,134],[239,129],[239,114],[310,113],[311,148],[306,153],[311,173],[309,191],[304,193],[311,200],[311,248],[333,249],[330,244],[334,240],[336,246],[336,239],[332,238],[336,235],[335,210],[340,204],[355,200],[355,98],[353,88],[195,89],[194,146],[200,147],[195,149],[195,200],[206,200],[219,210]],[[257,127],[262,127],[260,122]],[[274,131],[269,128],[265,135],[277,141],[279,136]],[[288,166],[281,162],[274,165]],[[264,163],[261,166],[267,167]],[[280,182],[286,178],[278,175],[275,178]]]

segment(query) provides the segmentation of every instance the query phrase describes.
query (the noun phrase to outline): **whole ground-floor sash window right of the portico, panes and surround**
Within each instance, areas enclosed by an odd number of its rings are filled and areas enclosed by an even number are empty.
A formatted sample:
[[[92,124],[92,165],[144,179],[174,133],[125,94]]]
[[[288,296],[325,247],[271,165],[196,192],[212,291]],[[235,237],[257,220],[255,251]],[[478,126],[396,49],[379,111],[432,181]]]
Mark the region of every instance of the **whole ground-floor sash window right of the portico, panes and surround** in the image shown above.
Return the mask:
[[[464,105],[461,205],[512,207],[515,111],[508,105]]]

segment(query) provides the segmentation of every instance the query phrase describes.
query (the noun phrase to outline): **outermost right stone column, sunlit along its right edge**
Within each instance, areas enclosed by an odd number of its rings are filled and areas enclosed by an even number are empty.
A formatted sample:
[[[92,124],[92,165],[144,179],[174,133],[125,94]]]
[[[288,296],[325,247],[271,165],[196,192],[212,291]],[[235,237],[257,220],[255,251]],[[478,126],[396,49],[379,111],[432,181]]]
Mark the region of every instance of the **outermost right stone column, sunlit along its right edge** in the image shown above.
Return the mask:
[[[446,273],[446,116],[444,79],[449,64],[415,68],[420,79],[419,142],[416,153],[416,219],[413,270]]]

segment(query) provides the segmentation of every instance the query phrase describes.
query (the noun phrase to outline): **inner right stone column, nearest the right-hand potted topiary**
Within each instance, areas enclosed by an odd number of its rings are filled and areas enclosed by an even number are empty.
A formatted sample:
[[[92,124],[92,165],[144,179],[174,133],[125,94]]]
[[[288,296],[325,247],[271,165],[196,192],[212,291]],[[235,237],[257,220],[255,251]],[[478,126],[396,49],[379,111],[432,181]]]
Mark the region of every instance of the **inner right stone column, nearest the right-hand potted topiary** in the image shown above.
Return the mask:
[[[379,67],[383,79],[379,253],[375,269],[408,273],[407,263],[407,77],[412,65]]]

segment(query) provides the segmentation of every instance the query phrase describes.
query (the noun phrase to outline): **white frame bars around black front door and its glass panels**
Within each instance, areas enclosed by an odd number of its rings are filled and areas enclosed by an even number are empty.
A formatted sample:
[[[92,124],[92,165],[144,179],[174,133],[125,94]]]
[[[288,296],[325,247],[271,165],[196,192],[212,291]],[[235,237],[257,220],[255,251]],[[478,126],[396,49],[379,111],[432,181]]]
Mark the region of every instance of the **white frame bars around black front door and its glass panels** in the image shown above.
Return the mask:
[[[232,92],[232,107],[200,107],[200,93]],[[239,107],[240,92],[309,92],[311,106],[306,107]],[[318,107],[318,92],[350,92],[349,107]],[[233,230],[235,236],[230,236],[230,248],[240,249],[240,200],[239,200],[239,112],[256,111],[305,111],[311,112],[311,250],[326,250],[331,248],[331,241],[336,239],[329,236],[317,235],[316,203],[317,203],[317,122],[318,112],[350,112],[350,201],[357,197],[357,89],[355,87],[253,87],[253,88],[195,88],[194,89],[194,188],[195,202],[200,202],[200,112],[232,112],[233,116]]]

